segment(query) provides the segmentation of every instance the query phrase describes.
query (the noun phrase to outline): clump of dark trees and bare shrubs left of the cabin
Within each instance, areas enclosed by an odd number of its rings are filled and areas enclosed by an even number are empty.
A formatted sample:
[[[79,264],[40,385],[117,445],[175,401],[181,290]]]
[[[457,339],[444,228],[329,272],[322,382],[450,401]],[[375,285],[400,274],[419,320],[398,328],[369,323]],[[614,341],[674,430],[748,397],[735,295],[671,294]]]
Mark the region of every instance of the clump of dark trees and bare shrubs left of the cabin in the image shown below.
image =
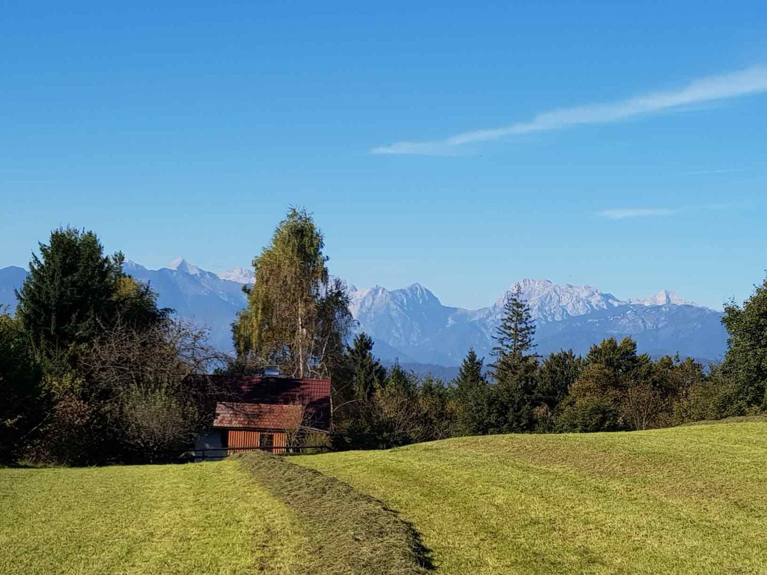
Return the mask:
[[[225,390],[187,383],[222,357],[123,273],[97,236],[51,232],[0,313],[0,462],[90,465],[179,449]]]

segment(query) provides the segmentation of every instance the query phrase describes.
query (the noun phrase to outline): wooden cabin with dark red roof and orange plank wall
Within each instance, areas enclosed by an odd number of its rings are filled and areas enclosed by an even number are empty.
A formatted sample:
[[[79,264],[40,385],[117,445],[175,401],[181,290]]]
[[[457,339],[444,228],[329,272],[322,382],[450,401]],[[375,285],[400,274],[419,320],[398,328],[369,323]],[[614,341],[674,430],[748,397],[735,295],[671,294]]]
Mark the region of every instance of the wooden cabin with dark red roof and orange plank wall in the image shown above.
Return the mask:
[[[219,379],[220,386],[232,389],[236,400],[216,404],[212,430],[198,441],[198,450],[219,449],[222,454],[230,454],[260,448],[282,453],[291,446],[291,438],[299,428],[330,429],[330,380],[297,380],[280,376],[208,377]],[[215,455],[215,451],[213,453]]]

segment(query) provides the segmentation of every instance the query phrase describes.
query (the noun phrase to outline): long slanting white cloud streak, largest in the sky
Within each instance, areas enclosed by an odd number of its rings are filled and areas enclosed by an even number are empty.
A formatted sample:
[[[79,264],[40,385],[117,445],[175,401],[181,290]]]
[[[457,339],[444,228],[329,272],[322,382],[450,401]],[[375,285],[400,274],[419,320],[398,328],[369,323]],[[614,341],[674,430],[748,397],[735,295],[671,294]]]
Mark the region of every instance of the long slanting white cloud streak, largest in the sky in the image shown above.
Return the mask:
[[[765,91],[767,91],[767,67],[755,66],[729,74],[700,78],[680,90],[653,92],[607,104],[559,108],[539,113],[528,122],[514,123],[511,126],[463,132],[444,140],[397,142],[389,146],[378,146],[370,151],[377,154],[450,154],[451,150],[464,144],[498,140],[505,136],[559,130],[568,126],[617,122],[640,114],[673,110],[683,106]]]

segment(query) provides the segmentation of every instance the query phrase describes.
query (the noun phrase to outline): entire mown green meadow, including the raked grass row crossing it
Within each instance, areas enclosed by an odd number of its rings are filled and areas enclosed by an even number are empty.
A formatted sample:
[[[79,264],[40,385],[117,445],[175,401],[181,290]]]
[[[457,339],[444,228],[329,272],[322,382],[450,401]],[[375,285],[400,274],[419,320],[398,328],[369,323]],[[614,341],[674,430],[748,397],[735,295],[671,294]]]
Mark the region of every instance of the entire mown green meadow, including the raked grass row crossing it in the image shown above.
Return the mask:
[[[0,470],[0,573],[767,573],[765,524],[765,422]]]

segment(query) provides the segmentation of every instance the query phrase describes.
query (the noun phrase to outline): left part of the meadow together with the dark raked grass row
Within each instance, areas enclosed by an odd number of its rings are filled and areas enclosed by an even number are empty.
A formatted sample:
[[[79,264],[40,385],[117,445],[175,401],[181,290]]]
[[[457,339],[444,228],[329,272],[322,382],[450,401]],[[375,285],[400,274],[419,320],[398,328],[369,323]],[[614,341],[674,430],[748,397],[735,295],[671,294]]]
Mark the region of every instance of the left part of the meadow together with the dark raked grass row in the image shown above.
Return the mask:
[[[0,573],[424,573],[381,501],[265,454],[0,469]]]

